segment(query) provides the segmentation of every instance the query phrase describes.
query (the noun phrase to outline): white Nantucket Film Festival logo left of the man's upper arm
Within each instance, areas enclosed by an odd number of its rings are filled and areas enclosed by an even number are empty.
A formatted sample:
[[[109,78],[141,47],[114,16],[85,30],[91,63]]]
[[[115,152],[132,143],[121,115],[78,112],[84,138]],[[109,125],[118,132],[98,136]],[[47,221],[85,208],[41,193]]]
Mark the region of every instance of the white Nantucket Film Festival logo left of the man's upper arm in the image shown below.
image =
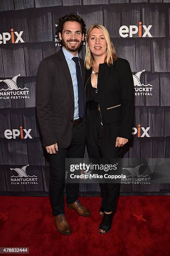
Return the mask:
[[[20,76],[13,77],[12,79],[0,80],[0,100],[10,100],[10,99],[29,99],[29,89],[24,87],[20,88],[17,85],[17,78]]]

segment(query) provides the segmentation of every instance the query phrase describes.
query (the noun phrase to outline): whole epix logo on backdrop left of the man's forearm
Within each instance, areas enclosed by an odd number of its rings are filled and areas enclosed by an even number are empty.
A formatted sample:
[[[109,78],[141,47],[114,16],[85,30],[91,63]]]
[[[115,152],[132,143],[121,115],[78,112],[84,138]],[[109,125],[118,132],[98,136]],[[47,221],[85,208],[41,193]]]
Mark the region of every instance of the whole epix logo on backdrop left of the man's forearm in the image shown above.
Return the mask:
[[[11,139],[11,138],[16,139],[16,137],[18,137],[18,136],[20,136],[21,139],[26,139],[26,138],[32,138],[30,136],[30,131],[31,131],[31,129],[28,129],[28,131],[27,131],[26,129],[23,129],[22,126],[20,126],[20,130],[18,130],[18,129],[5,130],[4,135],[5,135],[5,138],[7,138],[7,139]]]

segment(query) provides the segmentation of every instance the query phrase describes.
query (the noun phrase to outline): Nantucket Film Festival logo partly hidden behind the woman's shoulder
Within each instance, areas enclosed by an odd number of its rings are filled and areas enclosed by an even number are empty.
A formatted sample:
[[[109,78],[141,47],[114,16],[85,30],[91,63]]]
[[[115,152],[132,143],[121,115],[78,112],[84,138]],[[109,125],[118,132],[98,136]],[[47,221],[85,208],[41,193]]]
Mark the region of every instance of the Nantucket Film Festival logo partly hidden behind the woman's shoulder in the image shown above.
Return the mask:
[[[145,72],[145,69],[137,72],[135,75],[133,75],[133,82],[134,82],[134,95],[135,96],[140,96],[140,95],[145,95],[145,96],[152,96],[152,84],[141,84],[140,82],[140,76],[142,72]]]

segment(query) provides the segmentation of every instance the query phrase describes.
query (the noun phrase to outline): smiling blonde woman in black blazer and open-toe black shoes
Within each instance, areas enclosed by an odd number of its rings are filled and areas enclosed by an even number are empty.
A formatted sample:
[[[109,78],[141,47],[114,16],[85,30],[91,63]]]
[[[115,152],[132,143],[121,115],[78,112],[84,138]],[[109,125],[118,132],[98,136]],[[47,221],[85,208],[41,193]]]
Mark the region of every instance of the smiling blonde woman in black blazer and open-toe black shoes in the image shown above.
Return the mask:
[[[118,58],[104,26],[91,25],[86,36],[86,145],[90,158],[122,157],[132,137],[133,77],[129,62]],[[116,212],[120,184],[100,184],[103,219],[99,233],[107,233]]]

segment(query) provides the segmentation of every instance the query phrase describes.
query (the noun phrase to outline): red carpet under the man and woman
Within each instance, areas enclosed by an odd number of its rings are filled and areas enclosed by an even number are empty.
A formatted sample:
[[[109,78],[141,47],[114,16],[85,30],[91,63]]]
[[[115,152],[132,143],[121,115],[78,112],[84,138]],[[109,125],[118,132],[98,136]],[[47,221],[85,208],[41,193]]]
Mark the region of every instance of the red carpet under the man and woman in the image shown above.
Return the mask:
[[[73,232],[63,236],[56,230],[49,197],[1,196],[0,247],[29,247],[29,255],[35,256],[170,255],[170,196],[119,197],[113,228],[105,235],[98,234],[101,198],[80,201],[91,217],[66,208]]]

